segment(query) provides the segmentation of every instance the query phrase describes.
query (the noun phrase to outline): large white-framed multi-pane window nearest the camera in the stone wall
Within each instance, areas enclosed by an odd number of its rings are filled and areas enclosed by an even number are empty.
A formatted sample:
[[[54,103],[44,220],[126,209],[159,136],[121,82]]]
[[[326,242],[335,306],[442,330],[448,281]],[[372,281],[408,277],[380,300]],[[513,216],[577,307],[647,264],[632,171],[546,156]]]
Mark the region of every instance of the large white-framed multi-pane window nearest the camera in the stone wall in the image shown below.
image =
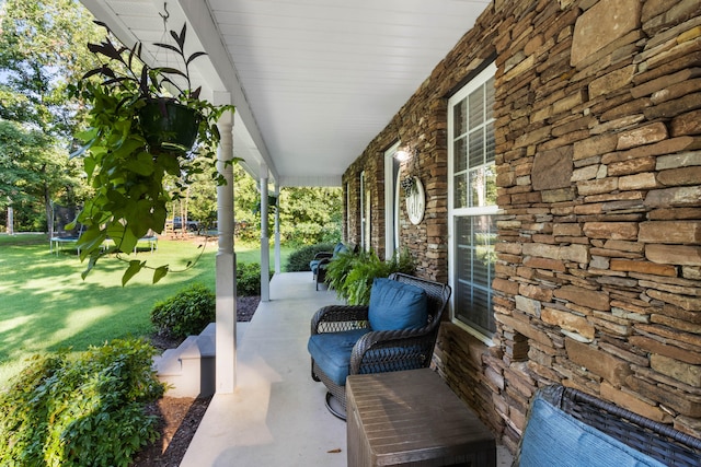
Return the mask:
[[[448,102],[448,200],[452,318],[489,341],[496,225],[494,73],[490,65]]]

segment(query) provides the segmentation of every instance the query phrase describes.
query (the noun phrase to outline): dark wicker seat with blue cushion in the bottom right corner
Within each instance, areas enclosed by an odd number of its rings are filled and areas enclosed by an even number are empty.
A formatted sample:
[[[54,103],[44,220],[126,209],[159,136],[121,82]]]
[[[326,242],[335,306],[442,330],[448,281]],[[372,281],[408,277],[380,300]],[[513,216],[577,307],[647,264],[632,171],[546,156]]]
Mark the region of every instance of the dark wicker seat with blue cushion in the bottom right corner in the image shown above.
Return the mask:
[[[574,388],[536,395],[520,467],[699,466],[701,440]]]

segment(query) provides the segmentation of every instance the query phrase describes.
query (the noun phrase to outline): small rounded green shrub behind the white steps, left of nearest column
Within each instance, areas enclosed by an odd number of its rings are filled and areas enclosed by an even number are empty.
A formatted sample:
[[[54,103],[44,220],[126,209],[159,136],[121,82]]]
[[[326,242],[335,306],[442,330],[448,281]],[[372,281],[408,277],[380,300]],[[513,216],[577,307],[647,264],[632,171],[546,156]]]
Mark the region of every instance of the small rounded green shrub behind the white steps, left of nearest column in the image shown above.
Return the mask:
[[[216,319],[216,303],[211,290],[194,283],[153,305],[151,323],[159,335],[176,339],[198,335]]]

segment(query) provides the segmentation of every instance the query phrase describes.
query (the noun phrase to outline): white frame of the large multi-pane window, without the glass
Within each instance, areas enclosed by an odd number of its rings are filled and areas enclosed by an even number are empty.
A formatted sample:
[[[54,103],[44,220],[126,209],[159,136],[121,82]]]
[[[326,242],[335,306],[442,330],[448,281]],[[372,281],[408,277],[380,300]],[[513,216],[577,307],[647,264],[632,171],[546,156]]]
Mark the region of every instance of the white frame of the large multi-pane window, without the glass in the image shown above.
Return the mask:
[[[460,91],[453,94],[448,101],[448,283],[453,291],[458,290],[456,284],[456,257],[457,257],[457,241],[455,237],[456,218],[466,215],[481,215],[490,214],[494,215],[498,211],[497,206],[474,207],[474,208],[456,208],[455,205],[455,161],[453,161],[453,106],[456,103],[464,100],[470,93],[482,86],[486,81],[496,74],[496,65],[493,62],[482,70],[476,77],[474,77],[468,84],[466,84]],[[450,319],[461,329],[471,334],[475,338],[480,339],[487,346],[493,346],[494,342],[490,336],[486,336],[482,331],[469,326],[462,320],[456,317],[456,293],[450,297]]]

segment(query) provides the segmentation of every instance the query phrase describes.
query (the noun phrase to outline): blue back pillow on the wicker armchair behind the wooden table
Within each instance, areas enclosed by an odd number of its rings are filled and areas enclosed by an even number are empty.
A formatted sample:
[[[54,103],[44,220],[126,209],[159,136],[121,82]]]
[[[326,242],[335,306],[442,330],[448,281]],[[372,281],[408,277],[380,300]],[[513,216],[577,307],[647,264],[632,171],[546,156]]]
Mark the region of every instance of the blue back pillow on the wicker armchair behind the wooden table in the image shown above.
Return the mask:
[[[417,329],[426,325],[427,318],[427,299],[423,289],[391,279],[375,279],[368,310],[372,330]]]

